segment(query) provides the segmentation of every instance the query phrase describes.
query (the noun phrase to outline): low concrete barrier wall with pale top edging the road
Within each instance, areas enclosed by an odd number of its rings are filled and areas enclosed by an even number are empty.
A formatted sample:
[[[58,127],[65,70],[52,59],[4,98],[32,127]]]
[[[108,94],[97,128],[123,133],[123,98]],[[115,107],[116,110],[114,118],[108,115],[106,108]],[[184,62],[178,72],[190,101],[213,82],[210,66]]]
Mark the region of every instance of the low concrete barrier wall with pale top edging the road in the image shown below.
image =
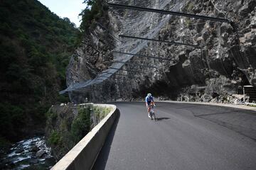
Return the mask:
[[[97,104],[94,106],[110,107],[112,111],[92,129],[73,149],[53,166],[52,170],[89,170],[92,169],[100,149],[112,128],[119,111],[114,105]]]

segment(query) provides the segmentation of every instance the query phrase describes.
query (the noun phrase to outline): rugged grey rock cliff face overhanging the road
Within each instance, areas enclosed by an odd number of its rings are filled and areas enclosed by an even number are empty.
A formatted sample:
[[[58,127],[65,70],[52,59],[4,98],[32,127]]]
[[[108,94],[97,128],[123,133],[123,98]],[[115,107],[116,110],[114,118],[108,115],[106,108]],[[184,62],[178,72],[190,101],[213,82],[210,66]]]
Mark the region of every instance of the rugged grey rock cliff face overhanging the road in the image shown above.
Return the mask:
[[[74,91],[70,93],[74,102],[82,102],[86,97],[90,101],[131,100],[147,92],[175,100],[226,102],[228,96],[241,94],[242,86],[256,86],[255,0],[122,0],[112,3],[227,18],[232,22],[109,8],[70,60],[68,86],[93,79],[114,60],[127,57],[114,55],[112,50],[164,57],[170,61],[132,57],[129,62],[133,64],[122,68],[137,72],[119,71],[118,74],[127,77],[112,76],[82,93]],[[198,44],[200,48],[121,39],[120,33]]]

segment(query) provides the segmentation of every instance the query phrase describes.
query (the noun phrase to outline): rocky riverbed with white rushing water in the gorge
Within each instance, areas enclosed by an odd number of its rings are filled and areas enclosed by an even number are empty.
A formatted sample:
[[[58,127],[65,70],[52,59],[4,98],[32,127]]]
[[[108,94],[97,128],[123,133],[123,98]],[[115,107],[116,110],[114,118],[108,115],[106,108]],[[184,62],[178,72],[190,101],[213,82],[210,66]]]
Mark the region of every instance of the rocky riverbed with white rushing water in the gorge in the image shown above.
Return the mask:
[[[0,169],[50,169],[54,164],[45,137],[33,137],[2,151]]]

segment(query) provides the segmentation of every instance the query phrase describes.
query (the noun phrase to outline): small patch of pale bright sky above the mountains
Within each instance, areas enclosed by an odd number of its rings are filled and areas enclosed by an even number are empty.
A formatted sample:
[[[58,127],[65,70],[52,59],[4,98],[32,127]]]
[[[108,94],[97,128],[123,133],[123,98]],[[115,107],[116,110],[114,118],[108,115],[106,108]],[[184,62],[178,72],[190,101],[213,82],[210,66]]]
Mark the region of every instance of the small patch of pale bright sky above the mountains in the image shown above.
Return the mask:
[[[86,7],[82,4],[84,0],[39,0],[47,6],[50,11],[56,13],[60,18],[68,17],[77,27],[80,26],[79,13]]]

